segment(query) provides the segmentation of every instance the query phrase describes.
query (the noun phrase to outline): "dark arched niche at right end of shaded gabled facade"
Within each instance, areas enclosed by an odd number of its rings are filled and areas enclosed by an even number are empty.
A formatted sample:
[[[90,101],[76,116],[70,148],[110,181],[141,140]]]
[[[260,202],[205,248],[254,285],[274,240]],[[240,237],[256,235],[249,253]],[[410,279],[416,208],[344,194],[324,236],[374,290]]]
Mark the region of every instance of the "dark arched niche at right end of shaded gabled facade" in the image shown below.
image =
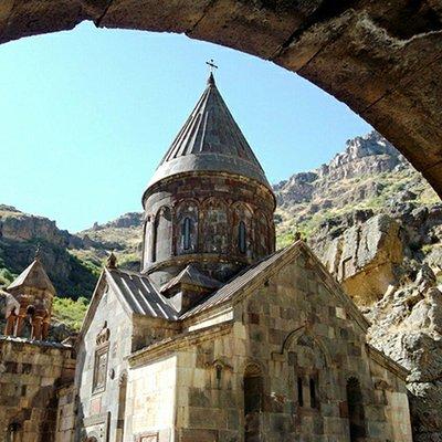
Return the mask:
[[[347,403],[350,442],[362,442],[367,435],[364,398],[359,380],[354,377],[347,380]]]

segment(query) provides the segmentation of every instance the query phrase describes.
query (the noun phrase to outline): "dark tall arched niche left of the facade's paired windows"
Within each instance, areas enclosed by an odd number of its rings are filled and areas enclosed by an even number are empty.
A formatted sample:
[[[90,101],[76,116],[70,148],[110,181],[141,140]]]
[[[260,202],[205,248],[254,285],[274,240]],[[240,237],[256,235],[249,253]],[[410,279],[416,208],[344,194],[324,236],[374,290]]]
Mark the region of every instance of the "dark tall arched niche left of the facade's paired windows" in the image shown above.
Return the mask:
[[[263,377],[257,365],[244,371],[244,442],[260,442],[261,412],[263,409]]]

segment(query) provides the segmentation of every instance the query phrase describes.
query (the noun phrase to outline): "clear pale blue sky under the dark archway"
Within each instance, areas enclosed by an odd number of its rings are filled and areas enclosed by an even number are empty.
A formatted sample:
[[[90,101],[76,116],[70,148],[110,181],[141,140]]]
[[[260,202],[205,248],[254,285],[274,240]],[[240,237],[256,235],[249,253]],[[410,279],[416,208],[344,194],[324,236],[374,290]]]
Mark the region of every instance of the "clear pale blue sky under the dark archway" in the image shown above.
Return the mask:
[[[270,62],[183,35],[97,30],[0,46],[0,202],[72,232],[141,209],[214,59],[221,94],[271,182],[315,168],[370,126]]]

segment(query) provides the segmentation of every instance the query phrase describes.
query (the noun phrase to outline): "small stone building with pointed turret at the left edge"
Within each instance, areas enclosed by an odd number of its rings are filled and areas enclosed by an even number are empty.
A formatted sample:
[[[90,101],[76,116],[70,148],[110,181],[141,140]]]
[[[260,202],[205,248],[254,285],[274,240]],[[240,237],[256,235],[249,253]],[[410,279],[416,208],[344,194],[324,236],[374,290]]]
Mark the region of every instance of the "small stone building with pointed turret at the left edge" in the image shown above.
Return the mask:
[[[46,340],[55,288],[39,256],[1,294],[0,441],[53,441],[57,388],[72,385],[72,346]]]

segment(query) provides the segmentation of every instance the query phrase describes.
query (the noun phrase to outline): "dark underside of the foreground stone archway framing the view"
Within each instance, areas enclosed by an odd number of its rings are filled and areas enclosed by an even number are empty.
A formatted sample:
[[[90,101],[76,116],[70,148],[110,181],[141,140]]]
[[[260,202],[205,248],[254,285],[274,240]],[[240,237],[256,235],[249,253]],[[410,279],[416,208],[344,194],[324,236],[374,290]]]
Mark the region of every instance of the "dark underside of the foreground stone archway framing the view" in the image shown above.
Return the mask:
[[[0,43],[73,29],[186,33],[296,72],[386,136],[442,196],[442,7],[385,0],[6,0]]]

